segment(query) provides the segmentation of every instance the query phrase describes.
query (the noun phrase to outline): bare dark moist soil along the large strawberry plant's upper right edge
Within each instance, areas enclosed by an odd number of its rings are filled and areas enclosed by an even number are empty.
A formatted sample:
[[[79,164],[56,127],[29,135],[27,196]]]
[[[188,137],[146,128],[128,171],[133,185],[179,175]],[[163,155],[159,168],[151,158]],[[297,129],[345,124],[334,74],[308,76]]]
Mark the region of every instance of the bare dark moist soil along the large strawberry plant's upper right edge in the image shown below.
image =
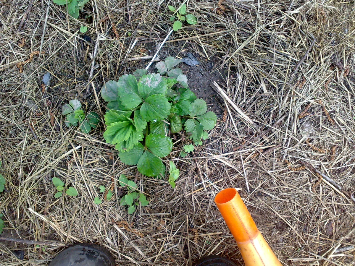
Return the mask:
[[[157,51],[156,47],[152,44],[147,44],[145,48],[148,50],[149,55],[154,55]],[[171,47],[163,47],[159,53],[158,58],[159,60],[163,61],[168,56],[175,56],[178,54],[180,49],[174,49]],[[187,54],[191,52],[193,56],[197,58],[198,61],[201,63],[197,66],[189,66],[185,63],[180,63],[177,67],[180,67],[183,73],[187,76],[187,82],[189,84],[189,88],[194,92],[197,98],[201,98],[207,102],[208,111],[213,111],[218,117],[223,115],[223,102],[220,96],[215,92],[213,88],[213,81],[223,85],[224,80],[221,77],[220,73],[216,70],[214,66],[217,66],[217,60],[214,60],[214,57],[211,57],[211,60],[205,61],[206,58],[200,56],[199,54],[193,52],[193,49],[185,46],[184,52],[179,54],[180,57],[184,58],[187,57]],[[146,63],[144,62],[144,67]],[[158,62],[158,61],[157,61]],[[156,72],[157,69],[155,68],[154,62],[152,66],[149,68],[148,72]]]

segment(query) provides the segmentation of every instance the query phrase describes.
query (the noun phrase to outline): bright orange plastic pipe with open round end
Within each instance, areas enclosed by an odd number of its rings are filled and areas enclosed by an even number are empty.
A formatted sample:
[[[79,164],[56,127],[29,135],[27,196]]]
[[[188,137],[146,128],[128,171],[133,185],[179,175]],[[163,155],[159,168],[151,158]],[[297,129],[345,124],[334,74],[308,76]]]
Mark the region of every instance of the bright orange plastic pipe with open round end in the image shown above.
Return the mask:
[[[227,188],[214,199],[228,225],[246,266],[281,266],[235,188]]]

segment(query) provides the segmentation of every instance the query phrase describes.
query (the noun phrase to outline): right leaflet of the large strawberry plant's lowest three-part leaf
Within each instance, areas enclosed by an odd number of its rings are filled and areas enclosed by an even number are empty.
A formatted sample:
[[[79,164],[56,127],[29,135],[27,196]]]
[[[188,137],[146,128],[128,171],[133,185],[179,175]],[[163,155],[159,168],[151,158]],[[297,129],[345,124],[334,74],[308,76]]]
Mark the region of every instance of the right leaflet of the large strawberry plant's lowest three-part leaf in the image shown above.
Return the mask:
[[[173,149],[173,142],[165,135],[149,134],[146,137],[146,146],[158,157],[165,157]]]

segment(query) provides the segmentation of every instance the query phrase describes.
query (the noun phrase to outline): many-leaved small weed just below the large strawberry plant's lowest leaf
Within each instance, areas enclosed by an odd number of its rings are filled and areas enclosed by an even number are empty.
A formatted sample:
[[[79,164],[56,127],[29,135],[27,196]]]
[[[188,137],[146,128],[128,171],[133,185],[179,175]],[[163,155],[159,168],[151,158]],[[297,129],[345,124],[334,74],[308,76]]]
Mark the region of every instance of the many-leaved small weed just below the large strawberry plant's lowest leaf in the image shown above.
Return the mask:
[[[118,179],[120,186],[127,188],[127,194],[121,198],[120,206],[128,205],[128,213],[132,214],[136,210],[136,206],[139,205],[139,202],[142,206],[147,206],[149,201],[147,200],[146,196],[142,193],[138,193],[137,185],[135,182],[128,180],[124,174],[121,174]],[[138,192],[135,192],[138,191]],[[138,199],[138,201],[136,201]]]

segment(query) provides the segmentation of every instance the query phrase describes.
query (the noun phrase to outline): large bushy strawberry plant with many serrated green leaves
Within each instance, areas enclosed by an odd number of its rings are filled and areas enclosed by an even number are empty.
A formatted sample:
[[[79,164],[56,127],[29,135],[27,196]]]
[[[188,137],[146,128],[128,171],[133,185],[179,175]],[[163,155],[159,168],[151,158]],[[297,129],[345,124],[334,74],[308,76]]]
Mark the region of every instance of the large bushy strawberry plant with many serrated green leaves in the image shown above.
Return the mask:
[[[181,69],[174,68],[180,62],[167,57],[155,66],[157,74],[136,70],[118,81],[106,82],[101,90],[108,102],[103,134],[106,143],[115,145],[120,160],[137,165],[145,176],[165,176],[161,158],[173,149],[171,134],[182,132],[184,127],[198,145],[217,122],[217,116],[207,112],[206,102],[196,99],[189,89]]]

